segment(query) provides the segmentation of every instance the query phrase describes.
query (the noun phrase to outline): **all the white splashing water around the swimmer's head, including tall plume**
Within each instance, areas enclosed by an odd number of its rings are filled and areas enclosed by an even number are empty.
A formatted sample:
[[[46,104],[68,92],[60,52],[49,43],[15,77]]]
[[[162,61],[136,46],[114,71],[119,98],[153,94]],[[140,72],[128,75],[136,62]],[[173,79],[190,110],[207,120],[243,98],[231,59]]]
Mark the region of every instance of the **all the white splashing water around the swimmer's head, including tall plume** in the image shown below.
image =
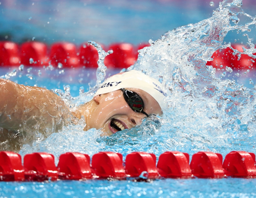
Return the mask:
[[[189,154],[201,150],[225,154],[231,149],[253,152],[256,142],[256,87],[248,89],[237,84],[235,80],[221,80],[215,76],[215,68],[205,66],[207,61],[212,60],[211,56],[216,50],[228,47],[233,49],[230,43],[223,42],[229,31],[250,32],[249,26],[256,23],[256,18],[245,13],[241,6],[240,0],[224,0],[212,17],[168,31],[157,41],[150,40],[150,47],[139,51],[137,62],[128,70],[142,71],[164,84],[168,108],[164,110],[162,118],[159,118],[162,127],[157,122],[151,122],[151,118],[146,118],[141,126],[108,137],[96,138],[93,136],[95,130],[81,131],[81,134],[85,134],[83,137],[79,136],[82,140],[72,149],[67,148],[82,152],[86,150],[81,150],[80,144],[86,141],[94,144],[96,141],[96,146],[88,151],[89,154],[104,150],[119,152],[124,156],[133,151],[147,151],[157,156],[167,150],[179,150]],[[238,25],[240,15],[248,17],[251,22]],[[253,40],[245,33],[244,37],[247,37],[249,48],[243,48],[243,51],[234,50],[234,53],[255,58]],[[76,104],[89,100],[95,93],[105,77],[104,58],[111,53],[102,50],[95,42],[88,43],[94,45],[99,53],[96,85],[85,93],[81,88],[80,96],[73,99],[67,94],[68,89],[65,93],[59,93],[61,97],[69,98]],[[227,66],[226,72],[233,70]],[[221,77],[225,75],[223,72]],[[56,156],[70,151],[56,151],[56,148],[66,144],[65,138],[71,138],[70,143],[76,143],[74,137],[63,134],[73,136],[69,132],[81,126],[69,127],[42,141],[38,149]],[[92,139],[87,134],[91,134]],[[64,143],[60,141],[57,145],[57,139]],[[23,150],[23,153],[28,151],[26,146]]]

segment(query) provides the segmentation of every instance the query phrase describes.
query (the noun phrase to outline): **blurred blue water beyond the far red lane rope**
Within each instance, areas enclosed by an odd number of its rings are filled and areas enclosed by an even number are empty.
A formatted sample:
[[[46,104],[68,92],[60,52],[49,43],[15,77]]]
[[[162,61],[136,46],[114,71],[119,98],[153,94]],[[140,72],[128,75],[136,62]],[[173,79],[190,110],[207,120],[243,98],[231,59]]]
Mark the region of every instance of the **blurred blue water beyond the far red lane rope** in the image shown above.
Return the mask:
[[[2,0],[0,40],[139,44],[212,16],[218,0]],[[254,16],[255,0],[243,2]],[[34,38],[34,39],[33,39]]]

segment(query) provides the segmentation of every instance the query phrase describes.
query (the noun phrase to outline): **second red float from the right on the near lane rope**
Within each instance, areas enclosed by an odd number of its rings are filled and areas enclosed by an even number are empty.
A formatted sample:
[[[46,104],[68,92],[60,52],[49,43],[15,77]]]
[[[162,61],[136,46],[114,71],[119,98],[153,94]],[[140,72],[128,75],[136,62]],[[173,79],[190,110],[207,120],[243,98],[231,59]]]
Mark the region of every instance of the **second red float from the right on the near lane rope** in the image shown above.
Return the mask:
[[[222,155],[213,152],[198,152],[190,162],[192,174],[199,178],[222,178]]]

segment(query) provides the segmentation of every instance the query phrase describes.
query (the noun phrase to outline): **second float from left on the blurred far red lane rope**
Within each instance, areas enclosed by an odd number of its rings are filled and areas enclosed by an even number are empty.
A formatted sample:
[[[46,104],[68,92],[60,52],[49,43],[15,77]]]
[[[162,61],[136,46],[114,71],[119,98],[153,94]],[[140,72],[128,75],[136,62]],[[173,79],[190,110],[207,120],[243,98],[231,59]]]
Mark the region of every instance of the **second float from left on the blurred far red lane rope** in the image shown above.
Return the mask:
[[[21,64],[23,65],[48,65],[47,46],[44,43],[33,41],[21,45]]]

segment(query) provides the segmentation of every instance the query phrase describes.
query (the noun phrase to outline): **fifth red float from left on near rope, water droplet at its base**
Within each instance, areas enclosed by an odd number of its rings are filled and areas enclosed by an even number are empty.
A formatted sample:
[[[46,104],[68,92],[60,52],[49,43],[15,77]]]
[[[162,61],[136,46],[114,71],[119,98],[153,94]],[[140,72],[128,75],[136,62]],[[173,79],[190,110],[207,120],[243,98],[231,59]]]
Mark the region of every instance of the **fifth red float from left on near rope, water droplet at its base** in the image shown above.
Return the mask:
[[[146,152],[133,152],[126,156],[125,171],[130,177],[139,177],[143,171],[148,179],[155,179],[159,177],[156,168],[155,154]]]

